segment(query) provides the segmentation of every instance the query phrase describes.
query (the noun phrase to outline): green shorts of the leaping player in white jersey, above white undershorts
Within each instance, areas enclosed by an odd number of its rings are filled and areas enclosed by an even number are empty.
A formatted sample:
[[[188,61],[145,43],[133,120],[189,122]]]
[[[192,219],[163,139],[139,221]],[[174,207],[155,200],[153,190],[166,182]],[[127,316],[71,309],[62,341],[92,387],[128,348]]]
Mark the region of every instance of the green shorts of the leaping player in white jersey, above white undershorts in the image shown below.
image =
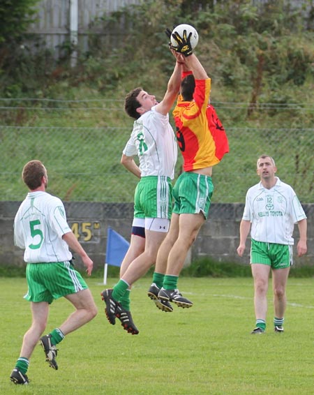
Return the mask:
[[[135,188],[134,218],[167,218],[172,214],[170,177],[142,177]]]

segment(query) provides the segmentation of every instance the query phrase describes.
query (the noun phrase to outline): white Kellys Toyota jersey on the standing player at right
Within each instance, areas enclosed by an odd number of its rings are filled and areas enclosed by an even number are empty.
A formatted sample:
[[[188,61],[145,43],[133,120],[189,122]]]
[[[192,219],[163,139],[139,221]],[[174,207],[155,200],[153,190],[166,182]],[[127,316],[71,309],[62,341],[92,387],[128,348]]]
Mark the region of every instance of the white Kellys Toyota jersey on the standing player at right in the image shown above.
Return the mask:
[[[251,221],[252,239],[291,246],[294,223],[306,214],[291,186],[276,179],[271,189],[264,188],[262,182],[248,189],[242,219]]]

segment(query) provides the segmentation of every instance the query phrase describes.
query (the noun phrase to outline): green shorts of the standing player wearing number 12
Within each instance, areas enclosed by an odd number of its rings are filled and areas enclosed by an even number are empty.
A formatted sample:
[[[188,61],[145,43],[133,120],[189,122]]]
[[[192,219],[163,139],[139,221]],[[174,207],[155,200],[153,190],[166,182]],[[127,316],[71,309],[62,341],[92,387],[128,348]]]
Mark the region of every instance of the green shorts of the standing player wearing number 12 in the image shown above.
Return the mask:
[[[251,264],[268,264],[272,269],[292,265],[292,246],[251,240]]]

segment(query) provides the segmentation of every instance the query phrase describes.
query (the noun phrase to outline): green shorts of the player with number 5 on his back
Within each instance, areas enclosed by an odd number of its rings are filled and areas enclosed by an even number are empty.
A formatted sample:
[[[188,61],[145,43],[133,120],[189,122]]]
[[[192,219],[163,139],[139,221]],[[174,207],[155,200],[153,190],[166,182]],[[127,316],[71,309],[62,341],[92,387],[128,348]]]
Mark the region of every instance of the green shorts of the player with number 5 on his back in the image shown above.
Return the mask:
[[[28,263],[26,269],[28,301],[47,301],[88,288],[70,262]]]

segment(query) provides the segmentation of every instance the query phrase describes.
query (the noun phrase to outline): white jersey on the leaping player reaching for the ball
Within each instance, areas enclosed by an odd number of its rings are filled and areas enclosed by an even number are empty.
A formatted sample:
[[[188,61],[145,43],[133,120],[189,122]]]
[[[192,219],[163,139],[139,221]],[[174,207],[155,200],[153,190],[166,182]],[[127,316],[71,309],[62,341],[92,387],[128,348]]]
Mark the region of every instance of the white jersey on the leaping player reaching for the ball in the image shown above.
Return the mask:
[[[169,123],[169,114],[160,114],[155,107],[142,114],[134,122],[123,153],[138,156],[141,177],[166,176],[174,179],[177,142]]]

